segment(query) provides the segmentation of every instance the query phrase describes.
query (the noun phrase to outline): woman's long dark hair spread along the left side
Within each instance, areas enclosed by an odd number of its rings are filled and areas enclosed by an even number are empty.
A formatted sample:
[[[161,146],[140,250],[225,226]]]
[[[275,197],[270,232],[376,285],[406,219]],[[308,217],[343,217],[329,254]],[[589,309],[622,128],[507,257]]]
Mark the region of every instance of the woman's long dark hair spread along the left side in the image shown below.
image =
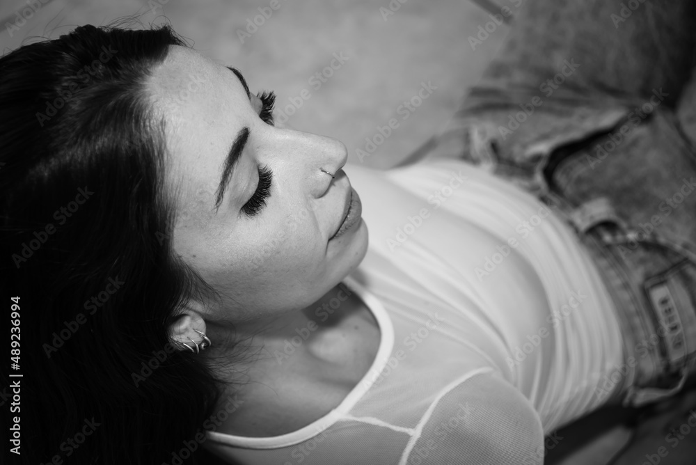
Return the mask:
[[[20,380],[7,427],[19,416],[24,463],[171,463],[219,397],[168,334],[209,292],[173,253],[164,123],[144,90],[170,45],[185,44],[169,26],[87,25],[0,58],[0,309],[19,297],[23,375],[3,362],[0,392]]]

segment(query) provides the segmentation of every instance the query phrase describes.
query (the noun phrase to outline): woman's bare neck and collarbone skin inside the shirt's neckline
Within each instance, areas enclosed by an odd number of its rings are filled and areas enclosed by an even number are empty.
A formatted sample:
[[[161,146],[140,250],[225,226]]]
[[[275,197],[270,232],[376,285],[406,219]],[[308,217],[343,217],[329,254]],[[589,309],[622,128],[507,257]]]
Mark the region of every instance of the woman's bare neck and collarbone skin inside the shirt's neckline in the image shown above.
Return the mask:
[[[217,364],[236,376],[218,371],[232,381],[221,398],[240,404],[220,431],[274,436],[326,415],[370,368],[379,340],[377,321],[363,301],[345,286],[333,287],[315,304],[269,325],[253,338],[253,348]]]

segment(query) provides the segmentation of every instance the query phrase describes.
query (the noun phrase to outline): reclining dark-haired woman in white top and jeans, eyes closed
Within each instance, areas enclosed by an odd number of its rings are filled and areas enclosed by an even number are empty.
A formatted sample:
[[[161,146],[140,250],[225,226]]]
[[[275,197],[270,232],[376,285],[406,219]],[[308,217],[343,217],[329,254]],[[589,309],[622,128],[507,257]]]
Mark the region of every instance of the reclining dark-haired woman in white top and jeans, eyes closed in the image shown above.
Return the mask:
[[[652,5],[530,0],[432,159],[384,172],[168,27],[0,58],[22,459],[535,464],[681,390],[693,11]]]

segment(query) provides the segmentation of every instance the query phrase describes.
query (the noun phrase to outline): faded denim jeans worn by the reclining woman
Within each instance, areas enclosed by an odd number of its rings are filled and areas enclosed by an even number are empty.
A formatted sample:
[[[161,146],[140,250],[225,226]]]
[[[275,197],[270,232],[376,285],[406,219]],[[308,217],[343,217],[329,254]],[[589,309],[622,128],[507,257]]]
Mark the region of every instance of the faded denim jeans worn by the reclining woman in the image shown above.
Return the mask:
[[[696,150],[675,114],[691,3],[527,0],[428,154],[464,157],[574,227],[622,322],[626,405],[696,373]]]

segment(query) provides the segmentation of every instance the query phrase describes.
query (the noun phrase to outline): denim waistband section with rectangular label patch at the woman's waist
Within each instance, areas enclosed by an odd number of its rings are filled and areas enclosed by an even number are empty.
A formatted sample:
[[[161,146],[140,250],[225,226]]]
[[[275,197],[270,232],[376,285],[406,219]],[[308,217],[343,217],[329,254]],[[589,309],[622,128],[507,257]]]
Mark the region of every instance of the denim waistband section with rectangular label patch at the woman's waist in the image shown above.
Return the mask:
[[[679,392],[693,372],[696,262],[635,233],[605,223],[582,240],[624,327],[624,404],[638,407]]]

